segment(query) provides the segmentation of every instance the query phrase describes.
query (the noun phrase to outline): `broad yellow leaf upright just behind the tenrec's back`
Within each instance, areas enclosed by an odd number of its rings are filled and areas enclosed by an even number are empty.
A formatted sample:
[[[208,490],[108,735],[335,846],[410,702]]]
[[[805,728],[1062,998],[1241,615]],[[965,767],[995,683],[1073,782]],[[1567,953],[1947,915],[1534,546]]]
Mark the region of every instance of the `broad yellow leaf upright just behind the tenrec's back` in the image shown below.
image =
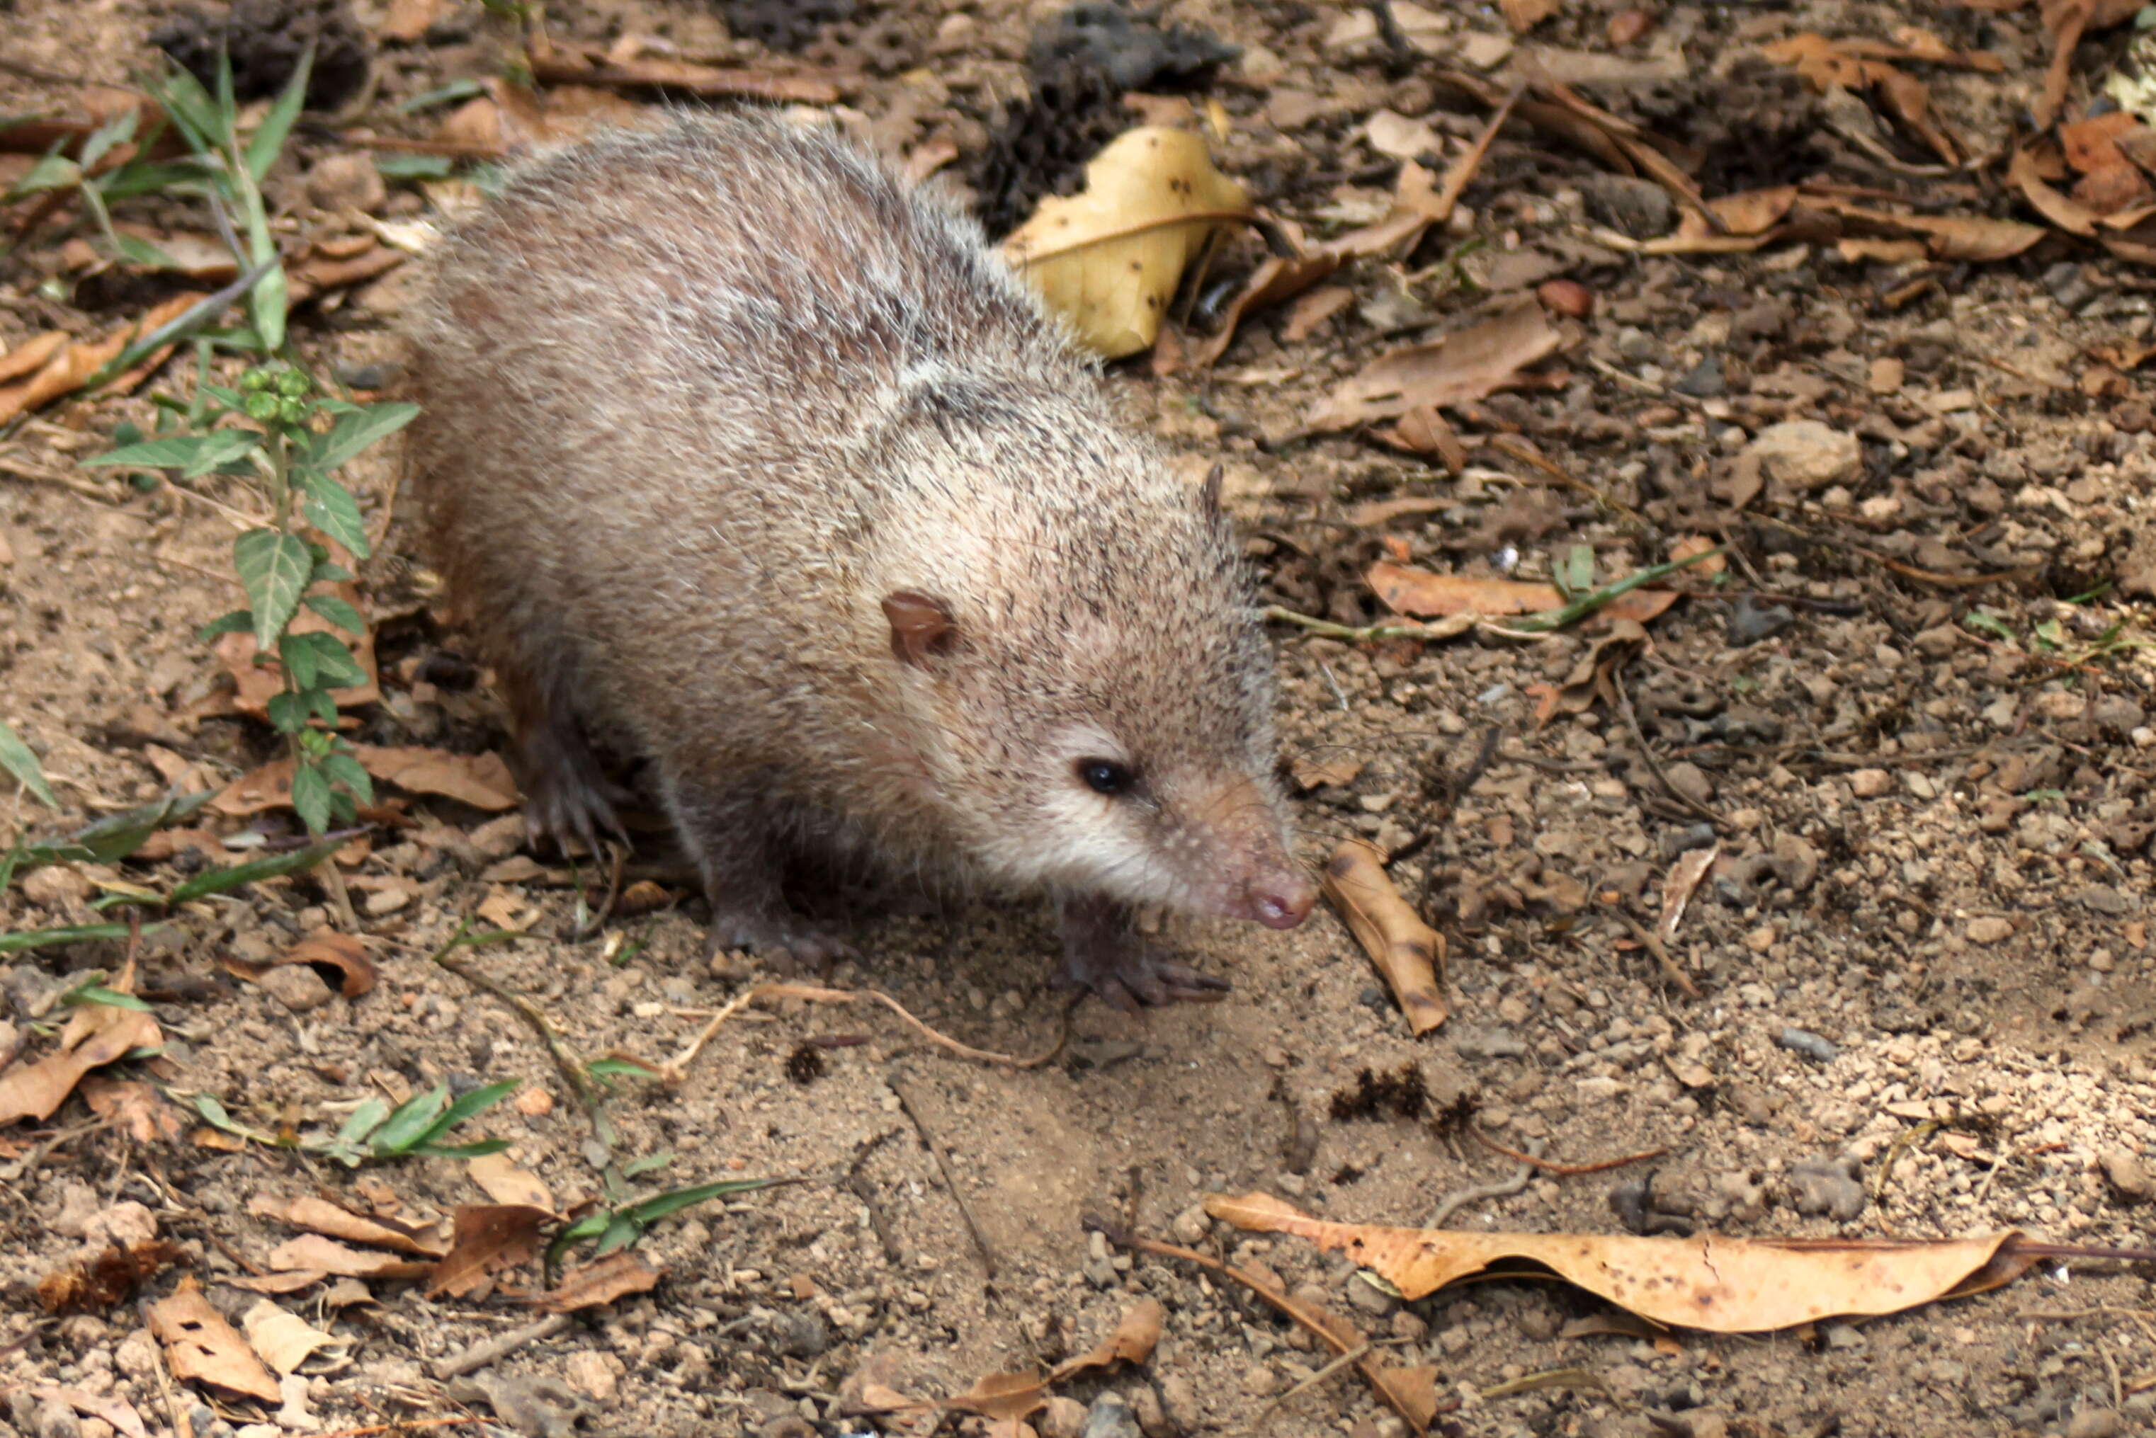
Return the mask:
[[[1115,360],[1153,343],[1184,269],[1250,216],[1203,136],[1141,125],[1087,164],[1084,190],[1044,198],[1003,254],[1078,343]]]

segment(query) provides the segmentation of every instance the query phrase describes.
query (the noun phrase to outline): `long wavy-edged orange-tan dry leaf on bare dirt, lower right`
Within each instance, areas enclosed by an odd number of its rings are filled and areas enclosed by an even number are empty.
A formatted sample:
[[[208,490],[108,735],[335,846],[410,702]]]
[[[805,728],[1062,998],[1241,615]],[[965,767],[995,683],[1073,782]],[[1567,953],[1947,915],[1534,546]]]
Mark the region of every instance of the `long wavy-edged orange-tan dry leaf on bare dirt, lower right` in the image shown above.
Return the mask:
[[[1490,1263],[1526,1259],[1658,1324],[1708,1332],[1772,1332],[1837,1315],[1899,1313],[1996,1287],[2037,1261],[2018,1250],[2020,1235],[2012,1231],[1895,1242],[1388,1229],[1311,1218],[1263,1192],[1207,1194],[1205,1212],[1240,1229],[1294,1233],[1345,1253],[1410,1302]]]

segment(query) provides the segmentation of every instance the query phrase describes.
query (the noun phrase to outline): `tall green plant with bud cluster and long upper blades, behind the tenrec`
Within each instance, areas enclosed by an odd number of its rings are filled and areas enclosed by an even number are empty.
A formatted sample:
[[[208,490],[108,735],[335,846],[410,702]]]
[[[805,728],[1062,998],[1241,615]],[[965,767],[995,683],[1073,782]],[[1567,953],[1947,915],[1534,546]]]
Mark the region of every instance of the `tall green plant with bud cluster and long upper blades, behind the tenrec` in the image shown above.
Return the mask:
[[[194,336],[194,395],[188,401],[157,399],[162,433],[116,435],[123,440],[119,448],[84,464],[170,470],[179,481],[222,474],[252,481],[261,492],[270,511],[267,524],[233,541],[233,567],[248,595],[248,608],[209,623],[203,642],[220,634],[252,634],[257,653],[276,655],[285,690],[270,701],[270,722],[291,748],[291,806],[308,832],[323,834],[332,824],[351,824],[358,806],[373,800],[367,770],[360,768],[351,746],[336,737],[334,699],[334,690],[358,686],[367,675],[351,647],[334,632],[293,632],[291,623],[304,606],[336,632],[354,638],[364,634],[367,621],[358,608],[328,593],[328,586],[351,580],[330,543],[341,545],[354,561],[369,556],[360,507],[338,483],[336,472],[360,451],[412,423],[418,405],[360,405],[336,399],[326,395],[289,354],[285,334],[289,289],[270,233],[261,181],[300,116],[306,75],[308,60],[302,60],[291,84],[250,136],[239,134],[229,60],[220,60],[216,95],[179,69],[149,84],[190,153],[183,162],[138,177],[138,183],[155,179],[168,192],[192,194],[209,205],[244,272],[248,323]],[[132,136],[132,129],[125,136]],[[123,166],[116,175],[129,168]],[[99,203],[93,203],[93,209],[103,220]],[[136,254],[123,244],[129,237],[116,233],[110,220],[103,220],[103,229],[123,259],[155,261],[153,254]],[[211,354],[220,347],[254,358],[237,386],[211,382]],[[134,349],[140,349],[140,341],[129,347]],[[125,354],[108,369],[123,360]]]

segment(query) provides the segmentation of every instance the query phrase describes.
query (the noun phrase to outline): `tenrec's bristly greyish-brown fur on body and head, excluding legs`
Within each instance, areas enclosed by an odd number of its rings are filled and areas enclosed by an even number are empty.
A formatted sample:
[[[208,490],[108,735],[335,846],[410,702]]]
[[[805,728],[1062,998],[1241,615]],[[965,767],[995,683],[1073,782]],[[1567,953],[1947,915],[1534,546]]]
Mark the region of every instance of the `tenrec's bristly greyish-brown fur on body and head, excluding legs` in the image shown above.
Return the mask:
[[[410,338],[436,558],[520,729],[567,699],[653,759],[699,856],[752,808],[901,873],[1218,912],[1279,852],[1227,526],[977,226],[856,149],[744,119],[541,157]],[[934,675],[893,591],[957,621]],[[1151,808],[1074,787],[1093,733]]]

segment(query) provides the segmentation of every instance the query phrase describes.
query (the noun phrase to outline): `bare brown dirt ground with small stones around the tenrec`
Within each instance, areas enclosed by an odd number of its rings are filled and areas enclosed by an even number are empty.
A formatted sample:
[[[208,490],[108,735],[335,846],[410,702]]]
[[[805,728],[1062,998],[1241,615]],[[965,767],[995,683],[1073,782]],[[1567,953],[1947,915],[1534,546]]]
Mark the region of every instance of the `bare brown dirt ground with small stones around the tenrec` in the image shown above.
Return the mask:
[[[1056,6],[862,2],[802,56],[729,39],[727,9],[565,0],[545,19],[599,45],[630,34],[778,73],[858,71],[841,123],[901,157],[946,144],[951,179],[972,183],[998,116],[1026,91],[1033,26]],[[1565,4],[1526,39],[1490,9],[1423,24],[1429,11],[1397,6],[1395,19],[1414,22],[1406,50],[1365,6],[1164,11],[1240,47],[1197,93],[1225,123],[1216,162],[1313,237],[1384,213],[1399,168],[1386,153],[1393,121],[1429,127],[1438,170],[1481,129],[1485,112],[1438,84],[1440,67],[1494,73],[1503,88],[1526,50],[1570,63],[1606,108],[1701,147],[1710,196],[1826,179],[2035,218],[1999,188],[2001,166],[1943,177],[1906,136],[1852,142],[1846,110],[1753,58],[1805,32],[1889,39],[1910,19],[1996,52],[1999,73],[1923,71],[1968,153],[1996,157],[2050,54],[2031,9],[1673,6],[1613,45],[1615,4]],[[356,13],[369,34],[386,19],[379,4]],[[69,110],[50,75],[123,84],[151,63],[147,37],[168,17],[155,0],[0,4],[0,52],[32,67],[0,75],[0,110]],[[440,112],[395,106],[500,73],[507,37],[479,4],[444,4],[418,39],[379,43],[373,91],[351,103],[382,134],[425,138]],[[2083,45],[2076,93],[2109,58],[2104,43]],[[347,157],[362,151],[336,140],[351,123],[302,125],[274,175],[293,233],[351,207],[433,216],[412,183],[354,177]],[[1024,168],[1052,151],[1013,153]],[[170,205],[149,220],[198,224]],[[520,1080],[474,1132],[511,1140],[513,1162],[563,1207],[599,1194],[602,1171],[619,1177],[625,1162],[668,1153],[625,1192],[802,1181],[658,1222],[640,1253],[664,1270],[660,1287],[513,1347],[479,1373],[492,1388],[433,1365],[530,1322],[505,1294],[429,1298],[407,1281],[282,1294],[276,1302],[336,1345],[302,1367],[280,1408],[175,1388],[134,1306],[47,1313],[39,1281],[155,1233],[183,1266],[144,1296],[192,1272],[237,1317],[259,1294],[231,1281],[274,1268],[293,1233],[261,1212],[265,1199],[319,1190],[418,1222],[483,1199],[466,1164],[423,1158],[356,1175],[222,1140],[179,1106],[138,1128],[75,1097],[45,1123],[0,1132],[0,1384],[28,1384],[9,1397],[13,1427],[112,1438],[114,1412],[78,1414],[34,1391],[58,1386],[194,1438],[397,1432],[369,1425],[464,1412],[530,1434],[578,1421],[653,1436],[927,1432],[934,1419],[843,1419],[841,1401],[869,1384],[953,1395],[983,1373],[1054,1363],[1153,1298],[1164,1337],[1151,1363],[1061,1384],[1063,1401],[1035,1416],[1041,1432],[1078,1432],[1080,1406],[1091,1406],[1084,1432],[1102,1436],[1242,1434],[1259,1421],[1255,1432],[1404,1432],[1352,1369],[1272,1408],[1330,1354],[1188,1263],[1089,1235],[1089,1220],[1222,1253],[1350,1315],[1393,1360],[1434,1365],[1440,1397],[1460,1404],[1440,1432],[2152,1427],[2145,1268],[2044,1263],[1999,1291],[1874,1322],[1714,1337],[1626,1326],[1602,1300],[1537,1278],[1401,1304],[1345,1259],[1238,1233],[1197,1207],[1210,1192],[1268,1190],[1326,1218],[1423,1225],[1468,1194],[1451,1227],[2152,1242],[2156,442],[2132,354],[2102,373],[2093,356],[2152,343],[2156,272],[2070,235],[1999,261],[1850,259],[1830,233],[1729,254],[1623,244],[1671,229],[1660,188],[1617,181],[1516,125],[1412,257],[1335,276],[1350,291],[1335,313],[1253,313],[1212,369],[1138,358],[1108,371],[1138,423],[1197,466],[1227,464],[1268,597],[1302,614],[1382,619],[1363,582],[1378,558],[1539,578],[1554,552],[1585,543],[1598,573],[1619,576],[1688,535],[1727,541],[1723,591],[1701,586],[1654,619],[1615,686],[1539,727],[1535,686],[1565,686],[1595,634],[1369,645],[1276,627],[1307,856],[1319,862],[1345,836],[1393,856],[1393,880],[1451,944],[1447,1026],[1408,1037],[1324,908],[1285,936],[1175,925],[1197,964],[1233,981],[1225,1003],[1145,1018],[1080,1005],[1065,1048],[1031,1069],[942,1052],[875,1007],[763,1003],[722,1026],[679,1087],[617,1080],[599,1132],[500,994],[530,1000],[578,1054],[664,1061],[768,972],[744,957],[705,962],[701,901],[679,888],[679,905],[614,914],[573,940],[569,875],[550,856],[520,856],[513,819],[410,796],[403,828],[377,830],[341,871],[377,987],[343,998],[308,983],[313,970],[278,985],[229,970],[226,959],[265,962],[321,925],[345,927],[338,897],[315,880],[211,899],[144,944],[140,987],[155,1000],[162,1056],[108,1076],[153,1080],[175,1104],[207,1093],[239,1123],[317,1138],[369,1095]],[[103,334],[179,287],[71,269],[63,246],[80,233],[82,218],[63,213],[0,261],[0,349],[54,328]],[[1257,254],[1248,241],[1222,274]],[[1567,377],[1453,412],[1470,448],[1457,474],[1365,433],[1307,431],[1311,405],[1376,354],[1546,280],[1591,298],[1554,362]],[[410,269],[397,269],[306,306],[298,345],[347,375],[392,362],[407,293]],[[1216,308],[1199,300],[1184,349]],[[224,785],[274,757],[267,729],[218,711],[231,681],[194,638],[233,604],[224,515],[170,485],[144,492],[73,468],[116,423],[149,427],[147,395],[179,390],[183,369],[134,397],[60,401],[0,435],[0,720],[39,752],[65,808],[0,798],[0,839],[69,832],[170,783]],[[1746,485],[1749,448],[1783,420],[1854,438],[1861,461],[1824,483]],[[1490,448],[1490,435],[1526,440],[1554,468]],[[457,636],[427,610],[431,576],[420,535],[392,509],[392,457],[369,455],[354,485],[369,520],[390,526],[362,576],[386,694],[358,711],[354,737],[498,748],[498,705],[485,686],[455,688],[440,658]],[[1427,502],[1373,509],[1410,498]],[[1501,737],[1485,750],[1492,729]],[[211,845],[295,830],[289,811],[207,828]],[[1716,867],[1671,942],[1695,998],[1621,914],[1656,925],[1671,871],[1708,845]],[[166,886],[203,862],[181,852],[22,875],[0,895],[0,931],[93,921],[95,882]],[[498,994],[427,959],[481,905],[483,923],[526,931],[466,955]],[[832,985],[877,987],[981,1050],[1056,1043],[1063,1000],[1048,987],[1044,910],[869,912],[862,925],[869,957]],[[0,962],[11,1043],[41,1052],[32,1020],[75,985],[69,974],[119,962],[119,944]],[[1350,1102],[1358,1071],[1404,1067],[1427,1089],[1421,1112]],[[1507,1184],[1518,1164],[1477,1132],[1570,1166],[1664,1156],[1604,1173],[1529,1169]],[[1649,1175],[1645,1197],[1619,1194]],[[1470,1192],[1483,1186],[1507,1192]],[[1554,1378],[1492,1395],[1544,1373]],[[541,1380],[561,1380],[576,1408],[520,1404],[548,1391]],[[9,1414],[0,1438],[13,1438]]]

